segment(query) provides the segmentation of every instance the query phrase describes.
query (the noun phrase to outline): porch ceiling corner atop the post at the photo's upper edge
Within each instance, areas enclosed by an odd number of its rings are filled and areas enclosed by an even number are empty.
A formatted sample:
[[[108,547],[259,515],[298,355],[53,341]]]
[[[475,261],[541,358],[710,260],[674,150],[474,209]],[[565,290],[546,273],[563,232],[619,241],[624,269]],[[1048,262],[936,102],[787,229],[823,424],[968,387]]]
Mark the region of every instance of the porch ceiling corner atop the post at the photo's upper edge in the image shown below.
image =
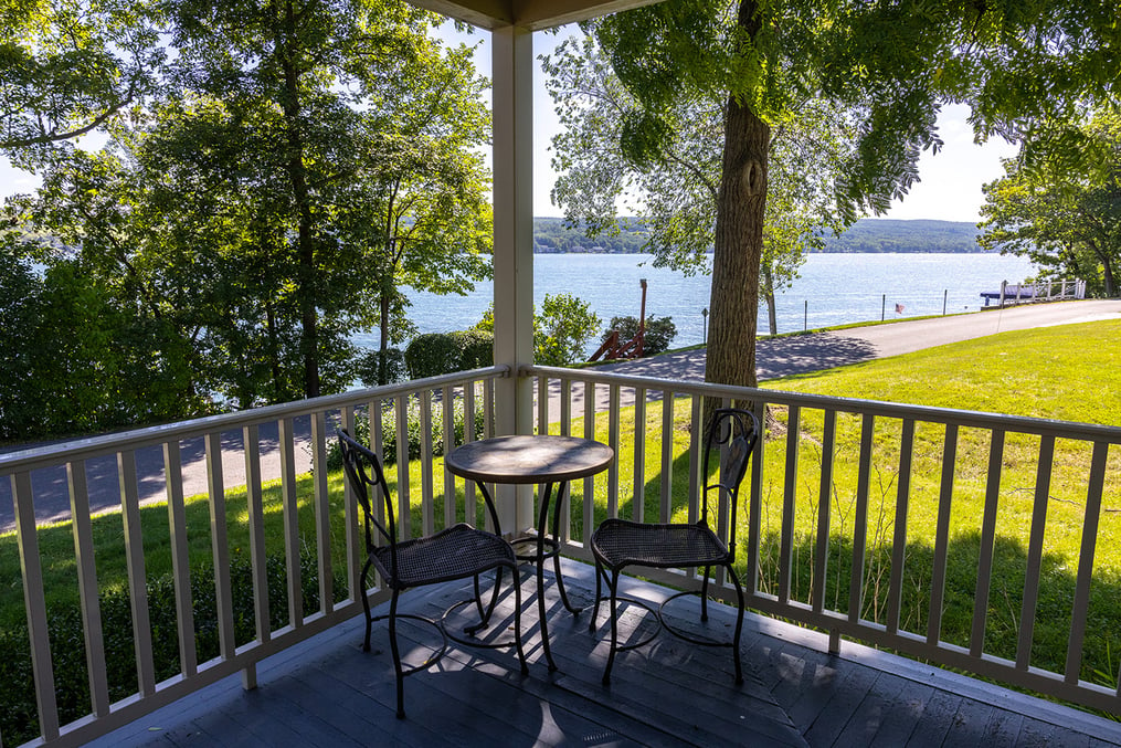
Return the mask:
[[[448,18],[485,29],[540,29],[647,6],[659,0],[410,0]]]

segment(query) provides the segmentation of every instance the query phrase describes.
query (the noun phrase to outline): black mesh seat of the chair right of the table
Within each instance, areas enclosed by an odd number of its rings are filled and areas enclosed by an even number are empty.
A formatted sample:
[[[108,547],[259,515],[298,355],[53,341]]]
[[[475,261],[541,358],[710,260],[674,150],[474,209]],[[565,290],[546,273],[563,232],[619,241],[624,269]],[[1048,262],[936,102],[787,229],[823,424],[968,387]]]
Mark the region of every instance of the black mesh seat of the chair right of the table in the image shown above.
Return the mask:
[[[592,535],[592,553],[604,566],[657,569],[706,566],[728,561],[728,548],[703,525],[646,525],[606,519]]]

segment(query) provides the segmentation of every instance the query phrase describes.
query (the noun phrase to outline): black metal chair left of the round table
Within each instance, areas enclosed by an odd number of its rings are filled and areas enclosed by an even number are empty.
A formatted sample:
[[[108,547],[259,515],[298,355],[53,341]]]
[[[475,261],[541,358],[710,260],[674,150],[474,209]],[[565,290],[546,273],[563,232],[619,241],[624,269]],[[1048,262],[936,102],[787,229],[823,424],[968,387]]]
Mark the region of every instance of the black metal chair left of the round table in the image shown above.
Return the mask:
[[[443,621],[435,621],[423,616],[411,613],[398,613],[397,601],[400,593],[407,589],[424,587],[427,584],[438,584],[460,579],[474,579],[474,602],[479,608],[481,622],[473,626],[467,632],[485,628],[494,604],[498,601],[499,588],[502,583],[502,570],[509,569],[513,580],[515,594],[515,626],[513,641],[498,641],[494,644],[471,643],[474,646],[498,648],[513,646],[518,652],[518,661],[521,663],[521,672],[528,673],[526,666],[526,654],[521,645],[521,585],[518,583],[518,558],[515,555],[513,546],[504,538],[493,533],[476,529],[465,523],[460,523],[453,527],[447,527],[439,533],[425,537],[400,541],[397,537],[397,523],[395,518],[393,501],[386,483],[386,475],[381,469],[381,461],[365,446],[358,443],[345,430],[339,430],[339,446],[342,450],[343,467],[346,478],[362,507],[362,515],[365,525],[365,548],[367,561],[362,567],[361,590],[362,608],[365,610],[365,641],[362,645],[364,652],[370,650],[370,629],[374,621],[389,620],[389,643],[393,654],[393,668],[397,673],[397,717],[405,718],[405,685],[406,675],[413,675],[429,668],[439,662],[447,650],[448,634],[444,629]],[[373,514],[374,504],[371,500],[370,489],[380,490],[385,499],[386,521],[379,521]],[[376,499],[374,499],[376,500]],[[492,518],[495,519],[494,507],[488,502]],[[373,529],[377,528],[377,534]],[[367,599],[369,589],[369,574],[371,569],[377,569],[385,583],[393,591],[392,600],[389,603],[389,613],[386,616],[371,616],[370,601]],[[483,606],[480,592],[479,576],[485,572],[494,570],[494,589],[490,603]],[[467,601],[469,603],[471,601]],[[397,644],[397,620],[408,618],[428,624],[439,631],[443,645],[439,650],[429,657],[425,663],[416,667],[405,668],[401,665],[400,649]],[[464,641],[454,637],[456,641]]]

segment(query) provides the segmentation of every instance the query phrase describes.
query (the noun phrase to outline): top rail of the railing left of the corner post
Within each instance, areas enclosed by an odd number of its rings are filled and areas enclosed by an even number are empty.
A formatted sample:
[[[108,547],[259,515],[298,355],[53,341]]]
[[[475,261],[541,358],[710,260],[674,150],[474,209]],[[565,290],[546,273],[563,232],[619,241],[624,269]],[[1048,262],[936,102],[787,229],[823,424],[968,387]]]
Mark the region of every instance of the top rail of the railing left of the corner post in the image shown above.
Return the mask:
[[[348,405],[359,405],[371,399],[396,397],[408,393],[425,389],[437,389],[448,385],[463,385],[472,380],[485,379],[489,377],[508,377],[510,368],[507,366],[487,367],[472,369],[471,371],[457,371],[455,373],[439,377],[428,377],[426,379],[414,379],[398,385],[387,385],[385,387],[370,387],[365,389],[354,389],[337,395],[325,395],[306,400],[294,400],[279,405],[268,405],[249,410],[237,410],[234,413],[223,413],[215,416],[193,418],[191,421],[179,421],[170,424],[148,426],[117,434],[102,434],[86,438],[66,440],[52,444],[44,444],[26,450],[0,454],[0,475],[10,475],[25,470],[34,470],[59,462],[82,460],[99,454],[132,450],[152,444],[179,441],[212,434],[214,432],[253,426],[270,421],[279,421],[289,416],[298,416],[319,410],[341,408]]]

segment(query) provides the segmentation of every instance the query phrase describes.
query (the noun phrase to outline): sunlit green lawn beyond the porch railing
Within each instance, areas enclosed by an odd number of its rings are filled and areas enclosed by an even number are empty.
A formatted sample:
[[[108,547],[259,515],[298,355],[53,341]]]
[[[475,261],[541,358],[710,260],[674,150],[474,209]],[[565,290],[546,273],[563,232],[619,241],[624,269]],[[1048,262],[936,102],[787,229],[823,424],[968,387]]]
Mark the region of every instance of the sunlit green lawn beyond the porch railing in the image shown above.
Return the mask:
[[[945,406],[971,410],[1009,413],[1100,424],[1121,424],[1121,322],[1065,325],[1026,332],[1012,332],[992,338],[956,343],[887,360],[845,367],[832,371],[794,377],[766,384],[770,389],[840,395],[899,403]],[[808,601],[813,584],[814,534],[821,505],[819,463],[823,437],[822,414],[806,412],[798,424],[798,479],[796,481],[794,569],[791,594]],[[789,414],[772,408],[766,445],[761,575],[763,589],[777,585],[784,472]],[[878,423],[873,446],[873,474],[869,502],[869,545],[864,578],[869,593],[862,602],[862,616],[886,620],[887,585],[891,573],[891,543],[895,530],[896,487],[898,484],[898,422]],[[835,477],[828,501],[833,517],[826,584],[826,606],[847,610],[849,573],[852,560],[852,527],[855,510],[856,455],[861,422],[842,414],[836,438]],[[647,408],[647,451],[645,456],[645,514],[655,519],[659,514],[661,405]],[[583,433],[580,422],[573,433]],[[632,516],[631,499],[634,433],[634,410],[621,415],[621,449],[619,453],[619,511]],[[608,440],[605,415],[596,418],[596,436]],[[674,480],[671,506],[677,518],[685,517],[684,496],[687,491],[688,461],[685,452],[689,440],[688,401],[675,408]],[[925,632],[930,593],[930,567],[934,555],[937,499],[942,475],[943,430],[919,425],[916,433],[915,460],[911,471],[910,504],[907,511],[907,556],[904,575],[904,607],[900,625],[911,631]],[[949,566],[946,579],[946,604],[942,628],[943,639],[969,645],[973,592],[980,555],[980,529],[986,487],[989,436],[963,430],[960,434],[954,471],[954,493],[948,535]],[[1020,627],[1020,601],[1027,567],[1028,533],[1035,486],[1035,461],[1038,440],[1009,435],[1002,456],[1002,480],[998,516],[998,539],[989,603],[985,649],[1002,657],[1015,657],[1017,631]],[[1115,683],[1118,652],[1121,649],[1121,450],[1111,450],[1105,487],[1104,508],[1097,536],[1095,578],[1087,640],[1084,648],[1082,676]],[[1078,548],[1084,521],[1085,478],[1090,451],[1081,444],[1059,442],[1051,483],[1053,500],[1048,507],[1046,551],[1043,564],[1040,600],[1036,615],[1032,665],[1063,672],[1071,624],[1071,601],[1077,573]],[[433,463],[435,475],[443,474],[443,462]],[[396,469],[387,478],[396,490]],[[441,481],[437,480],[437,486]],[[413,527],[420,520],[420,463],[410,464],[413,487]],[[312,481],[299,480],[302,543],[314,550],[314,509]],[[344,521],[341,475],[330,477],[331,551],[335,564],[335,594],[344,597],[345,566]],[[572,487],[573,537],[584,537],[582,484]],[[462,517],[462,493],[458,497]],[[595,521],[606,516],[606,481],[596,480]],[[442,498],[437,499],[437,525],[443,516]],[[744,502],[745,505],[745,502]],[[266,550],[271,556],[284,553],[281,534],[280,491],[277,483],[265,487]],[[476,520],[481,521],[481,516]],[[118,512],[94,519],[96,566],[103,595],[127,589],[123,529]],[[170,572],[168,553],[167,509],[152,505],[141,510],[147,578],[167,579]],[[738,517],[740,537],[747,537],[747,507]],[[244,562],[249,553],[248,512],[244,489],[228,492],[226,527],[231,554]],[[193,569],[211,563],[210,509],[206,497],[187,500],[187,534]],[[77,600],[73,538],[68,524],[39,532],[48,610],[52,616],[73,611]],[[314,556],[313,556],[314,557]],[[741,547],[741,563],[745,558]],[[314,563],[312,584],[314,587]],[[281,566],[282,569],[282,566]],[[747,571],[745,569],[743,571]],[[19,555],[12,534],[0,536],[0,634],[22,629],[24,599],[20,585]],[[203,585],[205,587],[205,584]],[[165,583],[166,588],[166,583]],[[151,598],[154,592],[149,593]],[[286,611],[282,585],[272,600],[275,612]],[[127,616],[127,613],[126,613]],[[127,619],[126,619],[127,620]],[[126,626],[123,628],[128,628]],[[251,631],[251,626],[249,629]],[[78,634],[80,636],[80,634]],[[201,634],[200,634],[201,636]],[[251,634],[250,634],[251,636]],[[22,634],[26,643],[26,634]],[[6,638],[18,644],[19,636]],[[174,635],[173,662],[175,658]],[[22,645],[26,652],[26,644]],[[78,645],[78,653],[81,645]],[[201,654],[203,648],[200,648]],[[22,653],[4,653],[9,662],[26,661]],[[56,664],[56,674],[58,665]],[[126,668],[127,669],[127,668]],[[10,676],[21,677],[21,676]],[[78,678],[67,678],[80,683]],[[128,684],[122,685],[128,692]],[[75,709],[82,713],[78,698]],[[86,702],[87,703],[87,702]],[[86,705],[87,709],[87,705]],[[7,735],[6,735],[7,739]]]

